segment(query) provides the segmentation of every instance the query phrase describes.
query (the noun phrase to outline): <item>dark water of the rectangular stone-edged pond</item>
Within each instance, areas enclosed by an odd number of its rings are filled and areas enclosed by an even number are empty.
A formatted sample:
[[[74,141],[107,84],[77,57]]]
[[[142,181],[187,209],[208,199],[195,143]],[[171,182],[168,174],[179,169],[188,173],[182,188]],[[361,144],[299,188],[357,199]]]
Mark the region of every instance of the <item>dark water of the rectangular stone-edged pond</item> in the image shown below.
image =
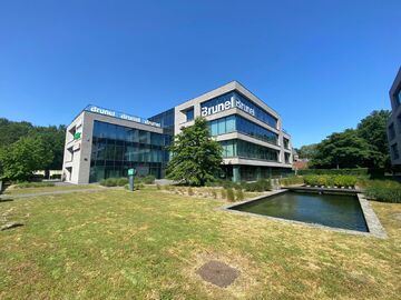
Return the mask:
[[[369,231],[356,196],[288,191],[231,209],[342,229]]]

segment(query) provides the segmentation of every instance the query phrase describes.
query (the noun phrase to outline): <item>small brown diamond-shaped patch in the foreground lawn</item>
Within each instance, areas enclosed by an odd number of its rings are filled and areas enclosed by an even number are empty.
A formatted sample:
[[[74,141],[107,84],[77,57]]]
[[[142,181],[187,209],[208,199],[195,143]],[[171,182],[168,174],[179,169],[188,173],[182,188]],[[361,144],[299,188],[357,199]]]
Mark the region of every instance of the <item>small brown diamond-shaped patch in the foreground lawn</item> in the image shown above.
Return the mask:
[[[217,260],[206,262],[196,270],[196,273],[199,274],[203,280],[221,288],[228,287],[239,276],[238,270]]]

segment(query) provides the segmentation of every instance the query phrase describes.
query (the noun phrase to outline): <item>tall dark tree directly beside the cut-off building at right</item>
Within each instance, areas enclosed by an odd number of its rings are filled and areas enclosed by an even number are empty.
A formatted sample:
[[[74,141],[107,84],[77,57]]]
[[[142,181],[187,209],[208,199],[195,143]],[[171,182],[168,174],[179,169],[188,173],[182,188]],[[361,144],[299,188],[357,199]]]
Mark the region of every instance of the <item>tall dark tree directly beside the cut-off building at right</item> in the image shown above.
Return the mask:
[[[376,152],[376,168],[390,166],[389,142],[387,138],[387,121],[389,110],[375,110],[364,118],[356,127],[358,136],[364,139]]]

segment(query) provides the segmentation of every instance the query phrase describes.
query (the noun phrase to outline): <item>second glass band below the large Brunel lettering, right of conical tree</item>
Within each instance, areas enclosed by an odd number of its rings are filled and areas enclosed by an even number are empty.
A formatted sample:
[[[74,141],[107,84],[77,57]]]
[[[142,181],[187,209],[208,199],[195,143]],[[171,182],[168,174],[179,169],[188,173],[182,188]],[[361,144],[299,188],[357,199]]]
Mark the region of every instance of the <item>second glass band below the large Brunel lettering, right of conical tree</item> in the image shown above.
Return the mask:
[[[219,142],[223,147],[223,158],[245,158],[266,161],[278,161],[278,151],[243,140],[227,140]]]

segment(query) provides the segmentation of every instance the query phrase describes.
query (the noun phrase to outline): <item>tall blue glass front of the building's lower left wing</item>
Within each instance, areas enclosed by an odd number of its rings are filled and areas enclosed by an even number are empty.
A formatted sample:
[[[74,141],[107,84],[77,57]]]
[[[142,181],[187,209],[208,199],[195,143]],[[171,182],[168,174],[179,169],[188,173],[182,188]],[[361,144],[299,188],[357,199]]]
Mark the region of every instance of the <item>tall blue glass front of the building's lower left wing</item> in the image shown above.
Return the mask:
[[[163,176],[168,161],[166,134],[95,121],[89,182],[127,177],[130,168],[138,176]]]

